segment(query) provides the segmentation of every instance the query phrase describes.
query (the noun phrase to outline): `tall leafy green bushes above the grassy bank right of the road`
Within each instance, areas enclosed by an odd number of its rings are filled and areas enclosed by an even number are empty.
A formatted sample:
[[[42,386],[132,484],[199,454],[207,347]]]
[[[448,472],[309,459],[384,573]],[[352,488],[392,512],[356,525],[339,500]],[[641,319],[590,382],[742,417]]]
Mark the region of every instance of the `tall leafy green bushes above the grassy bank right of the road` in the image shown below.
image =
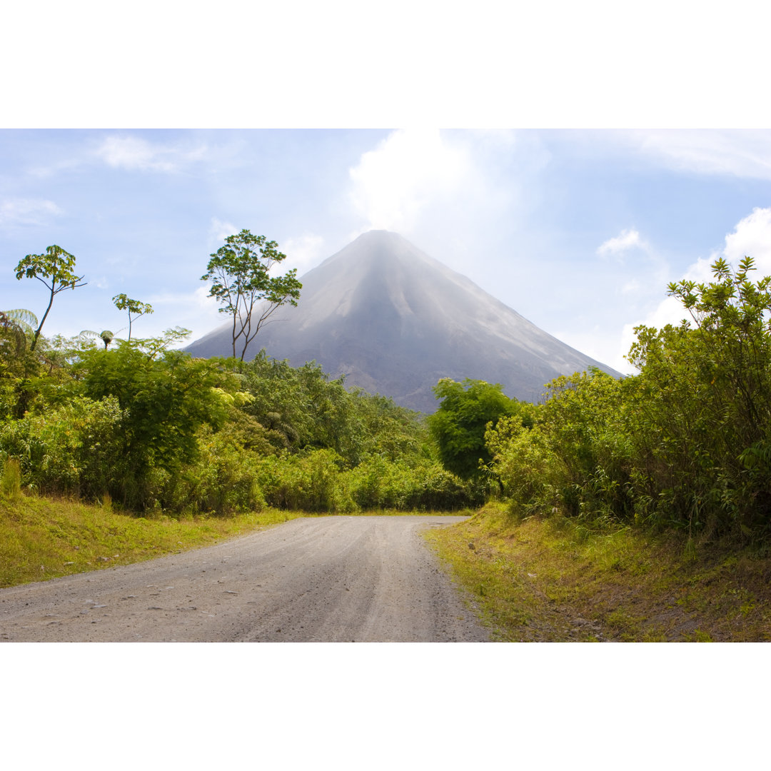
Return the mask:
[[[669,294],[690,321],[638,327],[640,374],[560,378],[531,428],[488,432],[514,510],[635,520],[702,537],[771,530],[771,278],[712,266]]]

